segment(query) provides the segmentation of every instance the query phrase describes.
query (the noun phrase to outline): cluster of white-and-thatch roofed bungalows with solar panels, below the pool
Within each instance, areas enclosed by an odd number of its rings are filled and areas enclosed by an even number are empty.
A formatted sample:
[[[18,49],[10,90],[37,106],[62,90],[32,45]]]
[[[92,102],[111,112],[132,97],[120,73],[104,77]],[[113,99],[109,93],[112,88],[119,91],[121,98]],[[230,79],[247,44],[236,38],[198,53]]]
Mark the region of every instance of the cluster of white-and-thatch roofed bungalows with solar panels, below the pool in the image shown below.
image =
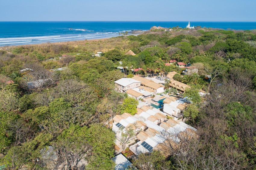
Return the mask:
[[[144,111],[138,109],[138,113],[134,116],[124,113],[113,118],[112,130],[116,133],[115,143],[117,146],[122,145],[120,142],[122,132],[132,128],[135,133],[135,136],[119,148],[129,147],[134,154],[138,155],[157,150],[159,144],[162,144],[163,147],[167,146],[166,140],[171,140],[173,146],[180,145],[180,140],[184,138],[181,132],[193,132],[193,135],[196,136],[195,128],[183,122],[167,119],[166,114],[158,109],[144,109]]]

